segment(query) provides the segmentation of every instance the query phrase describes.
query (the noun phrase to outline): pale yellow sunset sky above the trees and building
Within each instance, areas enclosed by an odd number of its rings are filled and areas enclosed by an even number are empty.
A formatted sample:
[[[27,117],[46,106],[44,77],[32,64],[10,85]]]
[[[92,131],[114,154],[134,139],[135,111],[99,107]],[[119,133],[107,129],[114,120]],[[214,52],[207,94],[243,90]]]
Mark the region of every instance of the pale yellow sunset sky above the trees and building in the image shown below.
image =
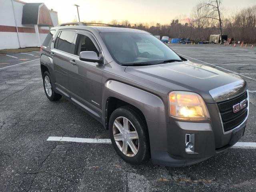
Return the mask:
[[[115,19],[134,23],[161,24],[172,19],[189,17],[193,7],[201,0],[23,0],[24,2],[43,2],[48,9],[58,12],[60,23],[78,21],[74,4],[80,7],[81,21],[108,23]],[[227,15],[241,8],[256,5],[256,0],[222,0]]]

